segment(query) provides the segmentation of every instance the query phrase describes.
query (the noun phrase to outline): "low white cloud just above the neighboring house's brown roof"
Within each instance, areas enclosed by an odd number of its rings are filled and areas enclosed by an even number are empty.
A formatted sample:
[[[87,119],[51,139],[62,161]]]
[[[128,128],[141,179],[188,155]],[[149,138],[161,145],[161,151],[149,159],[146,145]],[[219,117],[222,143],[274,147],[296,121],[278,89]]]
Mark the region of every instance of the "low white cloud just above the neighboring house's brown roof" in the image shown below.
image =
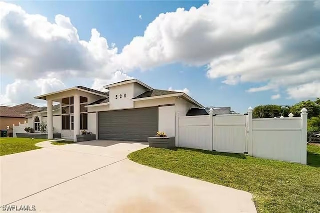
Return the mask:
[[[46,103],[33,97],[62,89],[65,89],[65,85],[56,78],[15,79],[13,83],[6,85],[5,93],[0,95],[0,100],[1,104],[16,105],[28,102],[40,106]]]

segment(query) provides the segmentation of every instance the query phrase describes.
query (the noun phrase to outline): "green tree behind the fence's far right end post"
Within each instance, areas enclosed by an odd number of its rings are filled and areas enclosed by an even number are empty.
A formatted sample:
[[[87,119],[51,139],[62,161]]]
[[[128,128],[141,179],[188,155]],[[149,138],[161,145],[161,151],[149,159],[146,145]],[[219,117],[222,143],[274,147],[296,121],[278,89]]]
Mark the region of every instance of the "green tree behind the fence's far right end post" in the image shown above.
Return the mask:
[[[316,101],[320,101],[319,98],[317,98]],[[316,104],[316,101],[307,100],[296,103],[291,107],[290,112],[294,116],[300,116],[301,109],[304,107],[307,109],[308,118],[316,117],[320,115],[320,105]]]

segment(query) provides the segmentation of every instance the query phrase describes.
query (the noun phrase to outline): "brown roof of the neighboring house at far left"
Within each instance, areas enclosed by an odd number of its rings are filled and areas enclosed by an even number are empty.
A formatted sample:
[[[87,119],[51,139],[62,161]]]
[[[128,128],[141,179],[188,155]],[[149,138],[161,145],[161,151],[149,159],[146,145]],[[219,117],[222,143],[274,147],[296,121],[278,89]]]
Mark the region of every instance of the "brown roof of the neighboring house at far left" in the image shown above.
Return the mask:
[[[21,115],[25,113],[25,111],[39,109],[39,107],[34,106],[29,103],[19,104],[15,106],[0,106],[0,116],[1,117],[14,117],[14,118],[25,118],[25,116]]]

